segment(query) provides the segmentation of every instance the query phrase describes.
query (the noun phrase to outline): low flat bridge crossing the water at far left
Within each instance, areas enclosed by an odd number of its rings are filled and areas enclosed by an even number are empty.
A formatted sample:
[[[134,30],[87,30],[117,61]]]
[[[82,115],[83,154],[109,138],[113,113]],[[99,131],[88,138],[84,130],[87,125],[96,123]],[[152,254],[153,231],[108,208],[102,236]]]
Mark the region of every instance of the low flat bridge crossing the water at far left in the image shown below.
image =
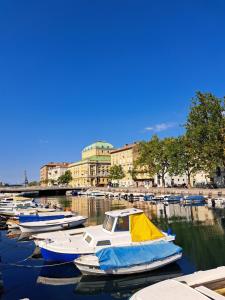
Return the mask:
[[[0,187],[0,193],[35,193],[38,192],[39,196],[56,196],[65,195],[67,191],[77,190],[82,188],[72,188],[71,186],[10,186]]]

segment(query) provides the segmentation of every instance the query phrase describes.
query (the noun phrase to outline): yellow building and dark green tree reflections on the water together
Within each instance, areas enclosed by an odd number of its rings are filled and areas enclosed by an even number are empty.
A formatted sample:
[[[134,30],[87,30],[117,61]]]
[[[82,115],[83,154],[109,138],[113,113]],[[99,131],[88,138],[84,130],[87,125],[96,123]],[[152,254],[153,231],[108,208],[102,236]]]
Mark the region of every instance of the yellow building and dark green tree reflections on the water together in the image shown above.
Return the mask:
[[[137,207],[142,209],[164,230],[172,229],[176,243],[183,247],[184,255],[192,264],[190,269],[207,269],[225,264],[225,211],[205,206],[182,206],[180,204],[134,203],[120,199],[98,199],[87,197],[47,198],[61,207],[88,217],[87,226],[101,224],[105,211]],[[189,264],[189,265],[190,265]]]

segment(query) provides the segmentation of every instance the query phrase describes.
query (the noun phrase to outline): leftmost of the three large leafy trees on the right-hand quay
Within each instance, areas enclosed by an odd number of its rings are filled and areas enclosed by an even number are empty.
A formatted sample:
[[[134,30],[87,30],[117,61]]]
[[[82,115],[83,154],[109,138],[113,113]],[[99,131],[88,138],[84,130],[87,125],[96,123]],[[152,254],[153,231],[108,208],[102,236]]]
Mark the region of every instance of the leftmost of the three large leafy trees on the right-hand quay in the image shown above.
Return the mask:
[[[165,175],[169,171],[170,149],[174,138],[160,140],[154,135],[150,141],[139,144],[139,156],[137,164],[150,176],[158,175],[162,179],[162,186],[165,187]]]

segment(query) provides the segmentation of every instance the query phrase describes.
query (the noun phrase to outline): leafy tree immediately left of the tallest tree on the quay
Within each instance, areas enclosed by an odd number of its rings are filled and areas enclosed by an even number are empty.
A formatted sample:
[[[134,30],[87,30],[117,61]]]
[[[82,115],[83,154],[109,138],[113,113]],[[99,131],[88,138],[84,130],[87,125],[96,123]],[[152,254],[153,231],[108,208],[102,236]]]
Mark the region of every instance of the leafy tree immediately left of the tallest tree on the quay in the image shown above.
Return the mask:
[[[185,174],[188,179],[188,187],[190,187],[191,175],[200,169],[200,161],[193,156],[192,147],[188,138],[184,135],[174,139],[170,147],[169,174],[171,176],[182,176]]]

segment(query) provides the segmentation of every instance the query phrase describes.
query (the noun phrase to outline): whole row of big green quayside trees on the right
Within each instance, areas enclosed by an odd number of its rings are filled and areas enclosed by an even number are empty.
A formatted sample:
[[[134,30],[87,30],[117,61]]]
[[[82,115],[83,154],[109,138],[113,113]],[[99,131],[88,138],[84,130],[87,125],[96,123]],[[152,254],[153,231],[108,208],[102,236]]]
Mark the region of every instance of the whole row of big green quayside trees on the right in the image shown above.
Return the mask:
[[[225,107],[224,99],[210,93],[197,92],[192,100],[185,124],[186,132],[178,138],[159,139],[154,135],[150,141],[139,144],[136,161],[140,170],[150,176],[157,174],[165,186],[164,177],[191,175],[198,171],[208,174],[217,167],[225,166]]]

